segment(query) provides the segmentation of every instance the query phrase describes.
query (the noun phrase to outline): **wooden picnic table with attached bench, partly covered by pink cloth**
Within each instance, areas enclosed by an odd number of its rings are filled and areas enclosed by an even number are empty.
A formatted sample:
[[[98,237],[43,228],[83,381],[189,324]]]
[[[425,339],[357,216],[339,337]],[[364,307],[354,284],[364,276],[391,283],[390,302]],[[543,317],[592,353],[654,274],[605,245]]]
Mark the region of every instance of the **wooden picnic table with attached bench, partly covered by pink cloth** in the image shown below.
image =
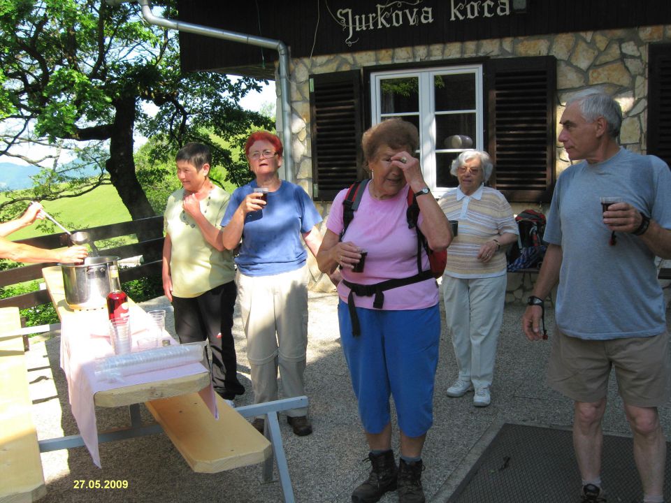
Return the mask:
[[[43,269],[43,276],[49,294],[52,298],[58,316],[62,322],[62,351],[65,333],[71,330],[73,324],[82,328],[78,337],[85,333],[80,321],[95,319],[96,313],[89,309],[86,312],[71,309],[65,300],[63,276],[58,266]],[[103,318],[106,317],[106,307]],[[137,316],[137,305],[131,305],[131,325],[133,316]],[[93,311],[95,311],[93,309]],[[90,328],[89,328],[90,330]],[[62,354],[63,358],[63,354]],[[173,444],[182,453],[189,466],[196,472],[220,472],[224,469],[246,466],[264,462],[272,455],[272,446],[264,435],[248,423],[235,409],[229,407],[219,395],[212,391],[210,374],[201,363],[201,372],[178,375],[160,380],[148,380],[139,384],[107,386],[108,389],[96,391],[94,403],[99,407],[119,407],[128,405],[131,408],[131,428],[115,431],[108,434],[99,434],[98,441],[115,440],[139,435],[148,435],[160,432],[161,428],[170,437]],[[174,368],[179,374],[180,367]],[[66,372],[67,374],[67,372]],[[91,379],[91,372],[76,374],[80,379]],[[144,374],[143,374],[144,375]],[[138,377],[140,379],[140,377]],[[69,383],[68,381],[68,384]],[[212,414],[212,404],[203,401],[201,396],[208,398],[211,393],[213,403],[219,413],[219,418]],[[199,392],[201,395],[199,395]],[[145,403],[147,409],[154,415],[158,425],[140,425],[138,404]],[[76,418],[76,416],[75,416]],[[160,425],[160,426],[159,426]],[[81,432],[81,427],[80,427]],[[105,437],[104,435],[108,435]],[[78,436],[77,436],[78,437]],[[52,444],[45,444],[43,451],[65,449],[75,445],[82,445],[81,439],[53,439]],[[59,442],[60,441],[60,442]],[[79,442],[72,444],[72,442]],[[89,447],[89,451],[91,451]]]

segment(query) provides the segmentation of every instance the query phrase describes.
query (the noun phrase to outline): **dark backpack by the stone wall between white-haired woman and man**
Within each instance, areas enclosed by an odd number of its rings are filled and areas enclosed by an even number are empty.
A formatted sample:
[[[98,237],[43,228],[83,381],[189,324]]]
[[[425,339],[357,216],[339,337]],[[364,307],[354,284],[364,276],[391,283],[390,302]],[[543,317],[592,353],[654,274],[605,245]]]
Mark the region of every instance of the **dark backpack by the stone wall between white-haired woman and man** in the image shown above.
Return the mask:
[[[524,210],[515,217],[515,221],[519,236],[505,254],[508,271],[540,268],[547,249],[542,239],[545,215],[535,210]]]

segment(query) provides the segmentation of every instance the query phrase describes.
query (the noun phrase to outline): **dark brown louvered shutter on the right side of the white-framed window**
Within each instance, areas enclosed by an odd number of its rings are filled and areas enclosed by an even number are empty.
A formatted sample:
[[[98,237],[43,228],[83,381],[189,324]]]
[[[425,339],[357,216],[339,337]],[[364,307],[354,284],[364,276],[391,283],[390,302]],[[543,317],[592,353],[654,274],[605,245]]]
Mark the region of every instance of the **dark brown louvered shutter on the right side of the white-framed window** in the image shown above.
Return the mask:
[[[492,187],[511,202],[552,197],[556,157],[556,61],[491,59],[485,66]]]

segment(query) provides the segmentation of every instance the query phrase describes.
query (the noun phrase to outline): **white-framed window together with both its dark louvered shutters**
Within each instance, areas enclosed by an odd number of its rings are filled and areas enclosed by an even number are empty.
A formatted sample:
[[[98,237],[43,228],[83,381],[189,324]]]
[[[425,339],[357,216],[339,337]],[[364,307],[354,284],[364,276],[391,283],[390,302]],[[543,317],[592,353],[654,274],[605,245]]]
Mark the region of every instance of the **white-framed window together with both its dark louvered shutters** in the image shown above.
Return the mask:
[[[556,60],[500,58],[422,68],[364,68],[310,75],[313,194],[332,201],[367,177],[364,117],[402,117],[419,129],[417,154],[433,195],[456,187],[449,166],[467,148],[486,150],[492,187],[510,202],[547,202],[556,157]],[[377,70],[377,71],[376,71]],[[366,96],[364,86],[366,84]]]

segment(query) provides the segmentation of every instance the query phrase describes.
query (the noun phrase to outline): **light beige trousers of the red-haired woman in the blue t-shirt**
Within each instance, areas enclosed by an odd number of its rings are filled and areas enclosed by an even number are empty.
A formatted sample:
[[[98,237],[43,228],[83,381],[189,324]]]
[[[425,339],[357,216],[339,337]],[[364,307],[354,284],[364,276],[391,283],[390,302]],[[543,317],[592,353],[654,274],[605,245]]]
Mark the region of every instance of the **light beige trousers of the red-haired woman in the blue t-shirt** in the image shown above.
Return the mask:
[[[308,267],[272,276],[238,272],[240,317],[247,336],[254,403],[279,398],[277,371],[284,398],[305,395],[308,349]],[[306,407],[287,411],[305,416]]]

